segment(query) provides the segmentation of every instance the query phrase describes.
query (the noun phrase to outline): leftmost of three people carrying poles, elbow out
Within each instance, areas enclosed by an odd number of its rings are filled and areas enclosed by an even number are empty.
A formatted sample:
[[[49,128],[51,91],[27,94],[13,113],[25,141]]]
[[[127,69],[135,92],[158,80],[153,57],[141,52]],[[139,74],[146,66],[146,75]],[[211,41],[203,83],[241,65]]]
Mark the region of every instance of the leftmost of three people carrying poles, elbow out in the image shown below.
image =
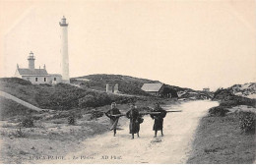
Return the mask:
[[[105,116],[110,118],[110,131],[113,130],[114,137],[116,135],[116,127],[117,127],[117,124],[118,124],[119,117],[116,117],[116,116],[113,116],[113,115],[117,115],[117,114],[121,114],[121,113],[120,113],[119,109],[116,108],[116,103],[113,102],[113,103],[111,103],[111,109],[108,110],[107,112],[105,112]]]

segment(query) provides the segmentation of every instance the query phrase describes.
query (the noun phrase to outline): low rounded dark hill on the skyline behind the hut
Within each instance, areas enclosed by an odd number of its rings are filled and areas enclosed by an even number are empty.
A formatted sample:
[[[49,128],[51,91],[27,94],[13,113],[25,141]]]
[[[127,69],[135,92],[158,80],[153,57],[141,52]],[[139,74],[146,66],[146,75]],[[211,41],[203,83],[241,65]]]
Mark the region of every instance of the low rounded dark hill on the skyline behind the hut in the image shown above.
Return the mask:
[[[152,81],[147,79],[139,79],[129,76],[121,75],[89,75],[84,77],[72,78],[71,83],[83,85],[87,88],[105,91],[106,84],[114,85],[118,83],[119,91],[127,94],[149,95],[141,89],[144,83],[160,83],[160,81]],[[190,88],[183,88],[175,85],[168,85],[168,87],[175,89],[176,91],[194,91]]]

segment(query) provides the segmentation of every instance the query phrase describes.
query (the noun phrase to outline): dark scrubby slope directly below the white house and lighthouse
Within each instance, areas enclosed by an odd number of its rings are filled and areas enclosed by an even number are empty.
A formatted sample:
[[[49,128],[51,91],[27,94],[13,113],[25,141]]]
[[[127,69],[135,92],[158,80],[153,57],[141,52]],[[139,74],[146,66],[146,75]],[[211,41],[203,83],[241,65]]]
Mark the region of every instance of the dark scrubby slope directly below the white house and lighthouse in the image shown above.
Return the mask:
[[[0,85],[0,90],[43,109],[68,110],[109,105],[112,101],[125,103],[135,100],[135,97],[106,94],[65,83],[32,84],[18,78],[2,78]]]

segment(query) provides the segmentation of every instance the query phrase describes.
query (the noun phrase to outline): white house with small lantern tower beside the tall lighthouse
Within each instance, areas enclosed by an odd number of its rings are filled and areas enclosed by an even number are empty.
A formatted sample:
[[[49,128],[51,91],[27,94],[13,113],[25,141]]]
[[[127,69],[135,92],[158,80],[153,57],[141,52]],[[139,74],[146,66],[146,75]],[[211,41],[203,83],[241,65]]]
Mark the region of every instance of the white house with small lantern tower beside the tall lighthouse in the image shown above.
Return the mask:
[[[15,72],[15,77],[24,79],[27,81],[30,81],[34,84],[39,83],[61,83],[62,82],[62,76],[60,74],[48,74],[46,70],[46,66],[43,66],[43,69],[35,69],[34,68],[34,60],[35,57],[33,56],[33,53],[30,53],[30,56],[28,57],[29,61],[29,68],[20,68],[19,65],[17,65],[17,69]]]

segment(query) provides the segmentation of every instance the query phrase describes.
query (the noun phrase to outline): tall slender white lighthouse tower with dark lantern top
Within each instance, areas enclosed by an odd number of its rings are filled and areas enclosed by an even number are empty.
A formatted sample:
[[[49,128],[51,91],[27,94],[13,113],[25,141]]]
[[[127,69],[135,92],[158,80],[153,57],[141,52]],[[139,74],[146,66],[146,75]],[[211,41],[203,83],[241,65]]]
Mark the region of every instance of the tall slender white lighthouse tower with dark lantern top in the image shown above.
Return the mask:
[[[69,54],[68,54],[68,24],[66,18],[63,16],[59,23],[61,28],[61,70],[62,70],[62,83],[70,83],[69,80]]]

